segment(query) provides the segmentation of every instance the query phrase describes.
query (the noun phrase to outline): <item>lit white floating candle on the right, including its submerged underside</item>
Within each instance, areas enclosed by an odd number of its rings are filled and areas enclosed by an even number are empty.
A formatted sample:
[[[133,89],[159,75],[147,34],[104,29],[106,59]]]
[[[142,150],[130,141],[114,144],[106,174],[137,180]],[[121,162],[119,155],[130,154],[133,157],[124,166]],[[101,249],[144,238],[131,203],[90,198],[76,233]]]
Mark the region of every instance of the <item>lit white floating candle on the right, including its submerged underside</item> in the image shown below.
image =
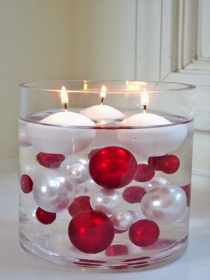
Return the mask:
[[[146,99],[144,99],[146,98]],[[139,129],[119,129],[118,140],[131,152],[142,156],[162,156],[179,148],[187,135],[185,124],[172,124],[156,114],[146,113],[147,92],[142,92],[144,113],[130,116],[121,122],[122,126],[140,126]],[[171,124],[171,126],[168,126]],[[167,126],[164,126],[167,125]],[[148,128],[148,126],[157,126]]]

